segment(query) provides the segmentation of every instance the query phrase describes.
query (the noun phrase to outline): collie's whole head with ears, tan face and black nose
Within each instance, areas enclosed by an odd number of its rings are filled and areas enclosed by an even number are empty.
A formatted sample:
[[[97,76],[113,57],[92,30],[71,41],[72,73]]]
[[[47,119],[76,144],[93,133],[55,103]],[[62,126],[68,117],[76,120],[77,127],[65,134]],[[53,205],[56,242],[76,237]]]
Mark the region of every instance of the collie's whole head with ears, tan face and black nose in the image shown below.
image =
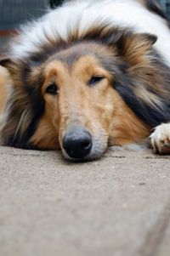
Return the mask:
[[[159,103],[151,91],[146,97],[142,78],[150,72],[150,86],[156,79],[150,57],[155,42],[146,34],[101,30],[29,60],[2,60],[13,79],[4,144],[61,148],[66,158],[82,160],[101,156],[108,142],[144,139],[148,130],[130,108],[143,117],[144,104]]]

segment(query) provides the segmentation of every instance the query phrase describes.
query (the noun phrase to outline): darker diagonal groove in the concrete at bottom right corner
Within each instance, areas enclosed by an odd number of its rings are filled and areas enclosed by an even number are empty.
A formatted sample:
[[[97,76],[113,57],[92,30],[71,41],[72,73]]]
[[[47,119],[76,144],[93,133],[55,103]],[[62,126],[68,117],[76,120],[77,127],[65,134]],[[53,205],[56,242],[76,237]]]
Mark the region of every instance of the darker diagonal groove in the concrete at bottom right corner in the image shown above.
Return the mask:
[[[158,255],[158,248],[164,238],[165,232],[168,227],[170,220],[170,203],[167,204],[163,213],[161,213],[161,218],[156,222],[156,225],[150,230],[148,236],[146,236],[143,246],[139,249],[139,252],[135,255],[139,256],[156,256]]]

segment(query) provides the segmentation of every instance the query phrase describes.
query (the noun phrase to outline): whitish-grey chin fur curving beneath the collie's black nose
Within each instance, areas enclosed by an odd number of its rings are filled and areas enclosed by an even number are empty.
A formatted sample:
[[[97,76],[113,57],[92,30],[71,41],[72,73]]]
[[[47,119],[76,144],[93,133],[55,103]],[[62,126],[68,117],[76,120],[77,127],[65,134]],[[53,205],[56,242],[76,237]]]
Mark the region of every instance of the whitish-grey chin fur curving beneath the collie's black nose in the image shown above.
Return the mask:
[[[83,158],[73,158],[69,156],[63,147],[61,148],[62,154],[67,161],[70,162],[89,162],[99,159],[107,148],[107,139],[100,137],[99,139],[93,139],[93,147],[88,156]]]

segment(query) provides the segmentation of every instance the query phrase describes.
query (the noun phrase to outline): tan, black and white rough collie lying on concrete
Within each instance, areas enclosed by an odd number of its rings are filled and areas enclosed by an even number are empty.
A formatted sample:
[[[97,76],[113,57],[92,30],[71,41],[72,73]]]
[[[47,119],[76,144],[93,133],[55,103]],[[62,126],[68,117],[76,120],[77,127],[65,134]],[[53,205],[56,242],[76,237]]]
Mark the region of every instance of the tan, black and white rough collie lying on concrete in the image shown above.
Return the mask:
[[[169,28],[151,0],[66,1],[23,26],[0,60],[3,145],[82,161],[150,138],[169,153]]]

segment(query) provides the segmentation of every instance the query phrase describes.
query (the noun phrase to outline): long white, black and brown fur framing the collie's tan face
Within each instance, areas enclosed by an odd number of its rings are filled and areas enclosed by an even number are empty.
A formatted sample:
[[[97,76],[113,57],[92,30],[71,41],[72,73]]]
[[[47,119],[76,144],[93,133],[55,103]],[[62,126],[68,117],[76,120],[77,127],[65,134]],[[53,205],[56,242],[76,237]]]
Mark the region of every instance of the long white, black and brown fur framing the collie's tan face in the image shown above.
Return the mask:
[[[150,128],[169,122],[168,24],[166,14],[153,1],[82,0],[66,2],[23,26],[7,59],[0,62],[14,81],[3,121],[4,144],[30,146],[44,111],[40,91],[43,63],[84,42],[114,49],[114,58],[99,54],[96,58],[116,74],[112,86],[142,122]]]

